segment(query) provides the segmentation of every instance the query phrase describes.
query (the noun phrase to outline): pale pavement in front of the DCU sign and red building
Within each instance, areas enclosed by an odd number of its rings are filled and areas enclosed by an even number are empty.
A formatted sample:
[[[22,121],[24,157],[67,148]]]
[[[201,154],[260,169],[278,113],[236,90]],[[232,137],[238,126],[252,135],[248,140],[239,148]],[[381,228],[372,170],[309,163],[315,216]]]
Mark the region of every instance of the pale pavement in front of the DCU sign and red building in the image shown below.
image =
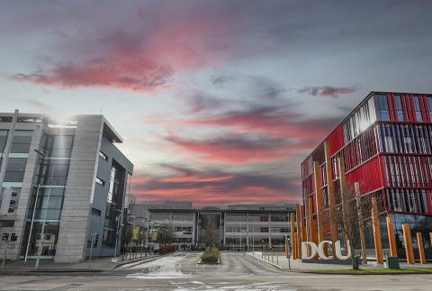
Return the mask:
[[[323,270],[326,269],[350,269],[352,268],[351,265],[335,265],[335,264],[315,264],[315,263],[302,263],[302,259],[290,259],[288,261],[287,258],[285,258],[283,253],[279,253],[279,256],[273,256],[271,252],[269,253],[269,256],[266,256],[266,253],[263,254],[261,252],[247,252],[247,255],[254,257],[255,259],[262,260],[266,262],[267,264],[270,264],[274,266],[275,268],[280,268],[282,270],[290,270],[290,271],[299,271],[299,272],[308,272],[308,271],[314,271],[314,270]],[[407,263],[400,263],[401,268],[430,268],[430,264],[427,265],[410,265]],[[377,264],[374,261],[369,261],[367,265],[360,265],[360,268],[384,268],[384,265]]]

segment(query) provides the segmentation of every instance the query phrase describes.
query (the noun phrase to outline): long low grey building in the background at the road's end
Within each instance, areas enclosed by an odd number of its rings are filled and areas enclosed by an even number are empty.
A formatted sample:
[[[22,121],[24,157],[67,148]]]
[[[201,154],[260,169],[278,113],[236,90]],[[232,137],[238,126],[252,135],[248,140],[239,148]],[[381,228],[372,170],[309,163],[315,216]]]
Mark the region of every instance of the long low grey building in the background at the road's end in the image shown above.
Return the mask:
[[[209,222],[216,225],[220,246],[226,250],[283,247],[290,230],[293,205],[229,205],[228,209],[149,208],[148,221],[155,231],[160,223],[172,225],[178,244],[202,244]],[[151,236],[150,236],[151,237]]]

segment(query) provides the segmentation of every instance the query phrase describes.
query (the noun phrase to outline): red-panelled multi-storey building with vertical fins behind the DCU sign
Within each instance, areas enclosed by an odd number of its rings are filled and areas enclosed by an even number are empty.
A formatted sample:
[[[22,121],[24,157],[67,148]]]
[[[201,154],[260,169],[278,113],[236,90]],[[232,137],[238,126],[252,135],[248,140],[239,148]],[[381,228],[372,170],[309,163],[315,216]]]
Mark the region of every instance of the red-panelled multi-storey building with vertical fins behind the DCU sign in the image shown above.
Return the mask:
[[[317,186],[324,213],[329,212],[332,191],[338,203],[338,159],[343,159],[348,185],[358,182],[363,198],[377,197],[384,248],[388,248],[386,215],[393,216],[400,258],[405,257],[402,223],[410,223],[412,230],[424,232],[423,238],[429,238],[432,232],[432,95],[393,92],[367,95],[302,162],[306,218],[308,214],[317,216],[317,206],[320,206]],[[320,178],[315,173],[320,173]],[[330,227],[325,235],[329,233]],[[366,227],[366,241],[368,248],[373,249],[370,227]],[[425,240],[428,258],[432,256],[430,243]]]

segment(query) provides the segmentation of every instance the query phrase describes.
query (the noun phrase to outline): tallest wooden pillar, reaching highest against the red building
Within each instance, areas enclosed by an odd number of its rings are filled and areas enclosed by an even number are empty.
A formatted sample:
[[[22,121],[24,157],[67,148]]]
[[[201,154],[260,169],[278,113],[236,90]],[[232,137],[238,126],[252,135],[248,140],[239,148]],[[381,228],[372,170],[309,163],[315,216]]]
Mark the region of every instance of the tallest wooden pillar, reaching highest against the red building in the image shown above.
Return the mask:
[[[338,241],[338,222],[336,217],[336,194],[335,185],[333,183],[333,165],[331,163],[331,155],[329,150],[329,141],[324,141],[324,155],[326,159],[326,176],[327,176],[327,190],[329,193],[329,221],[330,221],[330,240],[333,245]],[[335,248],[332,249],[333,259],[337,259]]]

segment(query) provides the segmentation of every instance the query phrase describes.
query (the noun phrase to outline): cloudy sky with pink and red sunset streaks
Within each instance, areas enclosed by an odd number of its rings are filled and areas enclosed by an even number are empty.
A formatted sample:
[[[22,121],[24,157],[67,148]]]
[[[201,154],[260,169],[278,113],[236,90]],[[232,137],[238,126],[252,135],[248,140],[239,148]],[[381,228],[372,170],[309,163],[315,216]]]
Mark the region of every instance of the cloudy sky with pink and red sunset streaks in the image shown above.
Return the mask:
[[[432,93],[431,1],[0,1],[0,112],[103,114],[138,201],[301,200],[370,91]]]

